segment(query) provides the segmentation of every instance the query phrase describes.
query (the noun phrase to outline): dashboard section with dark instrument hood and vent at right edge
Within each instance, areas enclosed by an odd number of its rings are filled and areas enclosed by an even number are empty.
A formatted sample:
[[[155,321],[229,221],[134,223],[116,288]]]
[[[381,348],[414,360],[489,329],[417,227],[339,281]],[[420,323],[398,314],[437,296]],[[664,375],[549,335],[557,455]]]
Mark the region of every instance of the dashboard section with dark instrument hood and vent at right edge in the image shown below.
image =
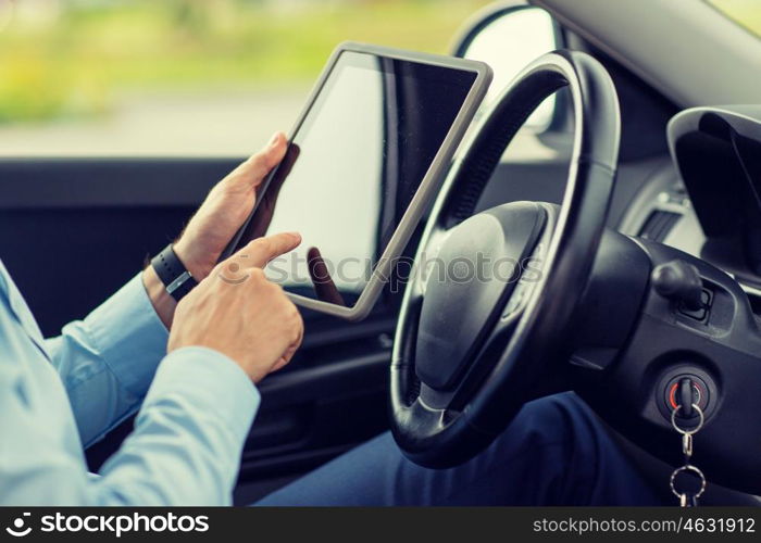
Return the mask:
[[[761,305],[761,106],[685,110],[620,230],[700,257]]]

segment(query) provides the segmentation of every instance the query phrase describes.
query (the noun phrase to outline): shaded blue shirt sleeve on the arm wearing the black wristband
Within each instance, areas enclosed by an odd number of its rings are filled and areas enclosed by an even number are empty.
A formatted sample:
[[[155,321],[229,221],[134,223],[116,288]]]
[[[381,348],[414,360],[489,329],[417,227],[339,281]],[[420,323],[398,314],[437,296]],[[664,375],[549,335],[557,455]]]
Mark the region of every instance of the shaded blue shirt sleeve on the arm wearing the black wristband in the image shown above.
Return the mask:
[[[84,320],[47,340],[85,446],[137,411],[167,338],[138,274]]]

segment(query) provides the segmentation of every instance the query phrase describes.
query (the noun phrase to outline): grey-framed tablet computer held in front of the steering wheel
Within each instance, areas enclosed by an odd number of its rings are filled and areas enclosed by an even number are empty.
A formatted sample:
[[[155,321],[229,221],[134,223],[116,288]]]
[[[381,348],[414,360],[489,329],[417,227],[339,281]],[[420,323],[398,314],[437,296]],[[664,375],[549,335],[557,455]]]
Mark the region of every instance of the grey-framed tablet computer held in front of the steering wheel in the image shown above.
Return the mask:
[[[267,276],[300,306],[363,318],[438,193],[490,79],[476,61],[340,45],[222,257],[265,233],[298,231],[301,245],[271,262]]]

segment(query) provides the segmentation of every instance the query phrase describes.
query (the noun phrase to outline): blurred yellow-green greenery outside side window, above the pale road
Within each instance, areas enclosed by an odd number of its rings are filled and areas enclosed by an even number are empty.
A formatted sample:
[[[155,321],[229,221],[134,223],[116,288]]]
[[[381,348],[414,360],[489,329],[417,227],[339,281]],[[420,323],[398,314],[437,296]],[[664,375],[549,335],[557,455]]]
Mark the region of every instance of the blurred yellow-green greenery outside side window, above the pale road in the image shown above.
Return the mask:
[[[486,0],[0,0],[0,124],[103,116],[122,93],[311,83],[352,39],[446,52]]]

